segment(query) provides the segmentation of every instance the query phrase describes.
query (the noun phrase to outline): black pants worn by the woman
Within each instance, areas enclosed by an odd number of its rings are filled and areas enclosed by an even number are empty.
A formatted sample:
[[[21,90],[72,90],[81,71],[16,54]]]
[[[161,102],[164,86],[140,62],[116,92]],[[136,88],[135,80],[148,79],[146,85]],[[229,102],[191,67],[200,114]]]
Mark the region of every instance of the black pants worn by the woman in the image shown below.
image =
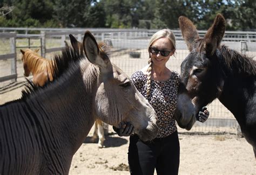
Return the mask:
[[[178,174],[179,171],[178,132],[155,138],[151,142],[141,141],[137,135],[130,136],[128,162],[131,174],[151,175],[156,168],[157,174]]]

